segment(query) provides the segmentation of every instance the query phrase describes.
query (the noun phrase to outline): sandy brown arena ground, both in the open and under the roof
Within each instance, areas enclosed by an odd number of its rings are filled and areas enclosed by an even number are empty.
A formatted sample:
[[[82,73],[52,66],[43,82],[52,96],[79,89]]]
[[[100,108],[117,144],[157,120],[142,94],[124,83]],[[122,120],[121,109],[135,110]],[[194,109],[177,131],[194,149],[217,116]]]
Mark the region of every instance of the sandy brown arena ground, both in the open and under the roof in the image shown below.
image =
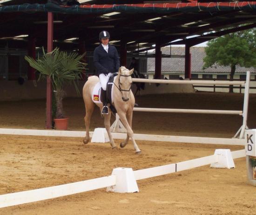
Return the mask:
[[[155,101],[137,98],[141,107],[242,110],[239,94],[157,95]],[[81,99],[66,99],[69,130],[84,130]],[[256,97],[250,95],[248,125],[256,127]],[[44,128],[45,101],[0,103],[0,128]],[[232,137],[242,124],[240,116],[134,113],[135,133]],[[98,110],[92,128],[103,126]],[[117,141],[119,143],[120,141]],[[81,138],[0,135],[0,194],[108,176],[115,167],[144,169],[208,156],[216,148],[243,149],[189,143],[138,141],[141,156],[132,144],[111,150],[108,143],[83,145]],[[255,214],[256,188],[247,185],[245,158],[235,169],[204,166],[138,181],[139,193],[107,193],[105,189],[53,200],[0,209],[0,215],[70,214]]]

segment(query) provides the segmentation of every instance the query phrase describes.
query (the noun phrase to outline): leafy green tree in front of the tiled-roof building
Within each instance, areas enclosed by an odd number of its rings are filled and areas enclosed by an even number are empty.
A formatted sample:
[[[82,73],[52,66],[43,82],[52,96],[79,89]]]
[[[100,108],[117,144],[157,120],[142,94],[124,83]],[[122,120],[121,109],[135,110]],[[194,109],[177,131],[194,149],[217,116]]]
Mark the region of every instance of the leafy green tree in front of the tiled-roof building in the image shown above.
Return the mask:
[[[211,66],[230,66],[230,79],[236,66],[256,67],[256,29],[229,33],[210,40],[205,48],[203,69]]]

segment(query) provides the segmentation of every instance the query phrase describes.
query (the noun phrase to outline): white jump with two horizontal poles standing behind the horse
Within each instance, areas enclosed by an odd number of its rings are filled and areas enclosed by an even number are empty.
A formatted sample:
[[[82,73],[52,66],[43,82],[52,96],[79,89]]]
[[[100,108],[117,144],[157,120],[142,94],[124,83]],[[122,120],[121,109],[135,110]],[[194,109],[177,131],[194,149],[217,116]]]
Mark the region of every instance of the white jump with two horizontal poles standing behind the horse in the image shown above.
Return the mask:
[[[231,110],[198,110],[198,109],[164,109],[164,108],[138,108],[135,107],[134,111],[148,111],[148,112],[170,112],[170,113],[203,113],[203,114],[233,114],[243,116],[243,124],[236,132],[234,137],[239,139],[244,138],[245,129],[247,127],[247,115],[249,104],[249,84],[250,84],[250,72],[246,72],[246,81],[211,81],[211,80],[161,80],[161,79],[143,79],[133,78],[133,82],[145,82],[145,83],[158,83],[158,84],[191,84],[191,85],[241,85],[244,86],[244,99],[243,99],[243,111],[231,111]],[[123,132],[124,126],[119,122],[119,117],[115,120],[111,126],[112,132]]]

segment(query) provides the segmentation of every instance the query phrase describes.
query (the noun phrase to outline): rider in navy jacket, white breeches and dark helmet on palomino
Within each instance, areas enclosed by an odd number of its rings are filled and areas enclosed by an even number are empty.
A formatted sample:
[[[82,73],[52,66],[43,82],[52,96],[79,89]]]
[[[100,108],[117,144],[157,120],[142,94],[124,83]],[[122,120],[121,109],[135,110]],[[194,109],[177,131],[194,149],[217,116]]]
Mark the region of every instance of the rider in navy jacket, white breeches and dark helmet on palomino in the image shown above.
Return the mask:
[[[94,65],[101,82],[101,101],[103,102],[101,114],[108,114],[109,112],[106,98],[107,83],[108,79],[113,73],[118,72],[120,67],[117,50],[115,46],[108,44],[109,38],[110,34],[107,31],[102,31],[99,34],[101,44],[94,49]]]

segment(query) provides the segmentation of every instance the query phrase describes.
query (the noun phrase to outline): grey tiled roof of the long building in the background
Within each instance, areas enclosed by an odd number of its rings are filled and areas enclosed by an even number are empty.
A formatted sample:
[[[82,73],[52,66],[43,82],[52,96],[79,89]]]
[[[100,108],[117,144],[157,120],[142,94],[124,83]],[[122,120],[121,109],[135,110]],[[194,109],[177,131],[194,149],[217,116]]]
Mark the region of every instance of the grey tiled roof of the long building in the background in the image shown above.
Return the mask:
[[[191,47],[191,72],[192,73],[230,73],[229,66],[214,66],[205,70],[203,67],[203,59],[206,56],[205,47]],[[170,54],[170,47],[162,47],[162,54]],[[152,52],[154,53],[154,52]],[[185,47],[171,47],[172,55],[185,55]],[[162,72],[184,72],[185,58],[164,58],[162,57]],[[250,71],[256,73],[256,68],[245,68],[236,66],[236,73],[246,73]],[[148,72],[155,72],[155,58],[148,58]]]

